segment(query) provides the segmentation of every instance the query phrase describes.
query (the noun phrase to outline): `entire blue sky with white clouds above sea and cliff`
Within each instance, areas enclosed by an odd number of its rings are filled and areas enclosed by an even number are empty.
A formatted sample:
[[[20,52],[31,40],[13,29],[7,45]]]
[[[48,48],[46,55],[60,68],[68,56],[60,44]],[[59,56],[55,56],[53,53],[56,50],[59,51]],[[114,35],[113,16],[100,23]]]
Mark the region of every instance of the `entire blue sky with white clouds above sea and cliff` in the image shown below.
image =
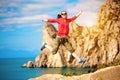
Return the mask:
[[[44,22],[60,11],[82,15],[76,23],[92,26],[103,0],[0,0],[0,58],[35,57],[40,53]]]

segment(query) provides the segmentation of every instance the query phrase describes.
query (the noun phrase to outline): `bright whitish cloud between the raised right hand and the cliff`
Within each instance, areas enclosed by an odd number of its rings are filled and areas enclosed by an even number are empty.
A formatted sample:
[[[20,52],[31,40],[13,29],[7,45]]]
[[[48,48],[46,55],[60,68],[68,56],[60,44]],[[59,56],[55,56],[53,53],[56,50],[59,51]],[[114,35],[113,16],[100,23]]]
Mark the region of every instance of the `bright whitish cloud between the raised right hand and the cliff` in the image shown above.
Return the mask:
[[[97,20],[97,13],[103,0],[79,0],[76,4],[67,5],[70,14],[77,14],[81,9],[82,15],[76,20],[79,25],[93,26]]]

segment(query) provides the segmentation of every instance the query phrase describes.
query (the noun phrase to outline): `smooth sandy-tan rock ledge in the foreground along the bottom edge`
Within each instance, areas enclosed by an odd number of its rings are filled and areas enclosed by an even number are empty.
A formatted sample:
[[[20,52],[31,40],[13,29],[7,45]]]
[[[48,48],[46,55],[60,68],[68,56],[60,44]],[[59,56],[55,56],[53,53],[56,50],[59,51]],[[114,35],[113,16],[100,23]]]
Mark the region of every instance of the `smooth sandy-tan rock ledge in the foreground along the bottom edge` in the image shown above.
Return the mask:
[[[120,65],[100,69],[94,73],[80,76],[63,76],[60,74],[46,74],[29,80],[120,80]]]

